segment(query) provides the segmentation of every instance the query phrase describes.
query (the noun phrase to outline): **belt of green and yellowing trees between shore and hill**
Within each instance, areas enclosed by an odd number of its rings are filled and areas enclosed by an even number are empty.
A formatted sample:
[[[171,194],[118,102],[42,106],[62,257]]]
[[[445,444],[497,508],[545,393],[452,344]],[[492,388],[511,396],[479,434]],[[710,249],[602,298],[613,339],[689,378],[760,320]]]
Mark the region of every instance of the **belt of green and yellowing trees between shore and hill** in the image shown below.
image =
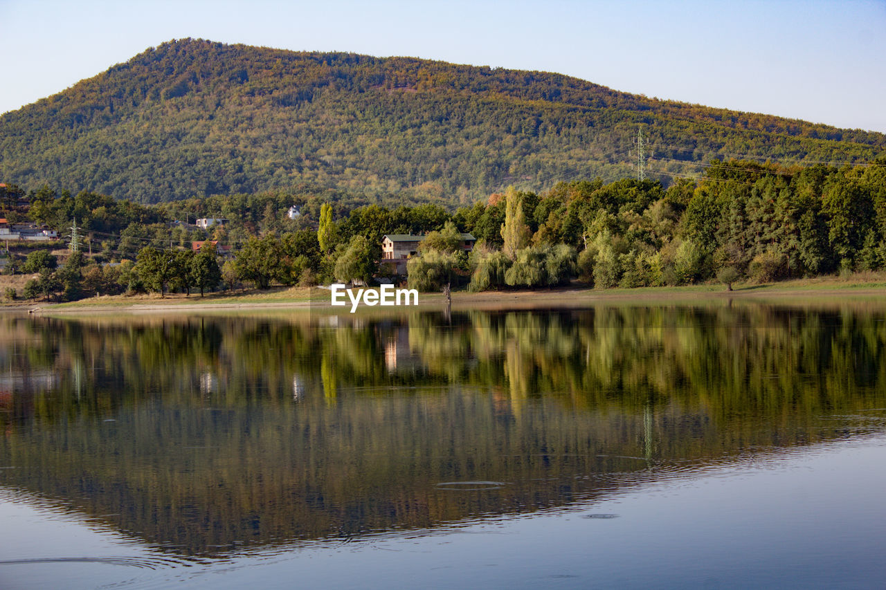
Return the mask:
[[[369,283],[392,276],[381,260],[388,233],[425,235],[407,267],[408,284],[422,291],[447,283],[476,291],[544,287],[575,278],[597,288],[731,285],[886,267],[886,158],[790,168],[712,160],[702,178],[666,187],[630,179],[560,182],[540,194],[510,187],[455,212],[366,204],[323,190],[157,206],[48,188],[30,197],[27,213],[7,214],[59,230],[76,217],[95,253],[81,251],[61,268],[43,254],[23,264],[10,254],[12,271],[40,275],[26,296]],[[294,220],[284,214],[293,204]],[[177,222],[198,215],[229,222],[208,231]],[[462,252],[462,232],[478,239],[470,254]],[[222,264],[213,248],[191,252],[192,240],[206,239],[232,247],[233,260]],[[99,266],[112,261],[121,263]]]

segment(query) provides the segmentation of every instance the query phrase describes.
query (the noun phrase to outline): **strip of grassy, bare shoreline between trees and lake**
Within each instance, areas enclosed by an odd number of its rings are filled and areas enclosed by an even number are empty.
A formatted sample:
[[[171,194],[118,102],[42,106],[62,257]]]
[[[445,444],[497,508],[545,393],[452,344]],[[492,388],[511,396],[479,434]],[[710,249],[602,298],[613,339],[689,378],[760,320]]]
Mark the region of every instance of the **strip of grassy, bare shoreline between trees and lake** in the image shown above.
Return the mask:
[[[882,277],[875,281],[843,280],[835,277],[798,279],[781,283],[766,283],[736,287],[727,291],[720,284],[686,285],[680,287],[637,287],[633,289],[594,289],[563,287],[544,290],[515,291],[454,291],[454,308],[525,308],[577,307],[596,304],[659,304],[692,303],[701,300],[757,300],[765,299],[882,299],[886,303],[886,283]],[[445,307],[446,301],[438,292],[421,293],[418,309]],[[372,309],[373,307],[369,307]],[[214,294],[206,298],[191,295],[126,296],[82,299],[68,303],[34,302],[24,305],[4,305],[4,312],[29,314],[90,314],[90,313],[187,313],[198,311],[244,311],[260,309],[291,309],[330,311],[329,291],[319,288],[290,288],[273,291],[245,291]]]

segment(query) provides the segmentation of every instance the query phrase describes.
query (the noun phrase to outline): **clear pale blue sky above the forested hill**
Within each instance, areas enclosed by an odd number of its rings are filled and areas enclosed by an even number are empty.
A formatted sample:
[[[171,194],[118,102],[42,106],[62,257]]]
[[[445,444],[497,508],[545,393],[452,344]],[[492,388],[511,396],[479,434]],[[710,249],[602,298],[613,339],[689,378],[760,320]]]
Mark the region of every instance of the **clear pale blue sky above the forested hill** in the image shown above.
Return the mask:
[[[173,38],[570,74],[613,89],[886,132],[886,0],[0,0],[0,113]]]

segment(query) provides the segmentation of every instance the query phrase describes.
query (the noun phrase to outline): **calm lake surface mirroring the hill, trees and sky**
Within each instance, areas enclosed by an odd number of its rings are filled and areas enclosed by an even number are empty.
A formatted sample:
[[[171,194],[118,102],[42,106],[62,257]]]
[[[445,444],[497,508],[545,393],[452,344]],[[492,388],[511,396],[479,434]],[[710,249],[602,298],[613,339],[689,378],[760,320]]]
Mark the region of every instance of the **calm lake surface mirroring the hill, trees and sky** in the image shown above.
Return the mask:
[[[0,587],[886,586],[886,302],[0,314]]]

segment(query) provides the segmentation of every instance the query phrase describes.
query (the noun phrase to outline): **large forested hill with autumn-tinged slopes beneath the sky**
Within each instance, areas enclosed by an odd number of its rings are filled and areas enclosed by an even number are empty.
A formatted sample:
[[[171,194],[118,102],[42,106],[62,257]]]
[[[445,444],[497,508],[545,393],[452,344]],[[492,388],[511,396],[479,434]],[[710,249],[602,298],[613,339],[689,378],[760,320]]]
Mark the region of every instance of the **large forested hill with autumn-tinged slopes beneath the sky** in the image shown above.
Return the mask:
[[[0,181],[141,202],[326,187],[466,203],[502,186],[699,175],[715,157],[865,162],[886,136],[560,74],[164,43],[0,117]]]

